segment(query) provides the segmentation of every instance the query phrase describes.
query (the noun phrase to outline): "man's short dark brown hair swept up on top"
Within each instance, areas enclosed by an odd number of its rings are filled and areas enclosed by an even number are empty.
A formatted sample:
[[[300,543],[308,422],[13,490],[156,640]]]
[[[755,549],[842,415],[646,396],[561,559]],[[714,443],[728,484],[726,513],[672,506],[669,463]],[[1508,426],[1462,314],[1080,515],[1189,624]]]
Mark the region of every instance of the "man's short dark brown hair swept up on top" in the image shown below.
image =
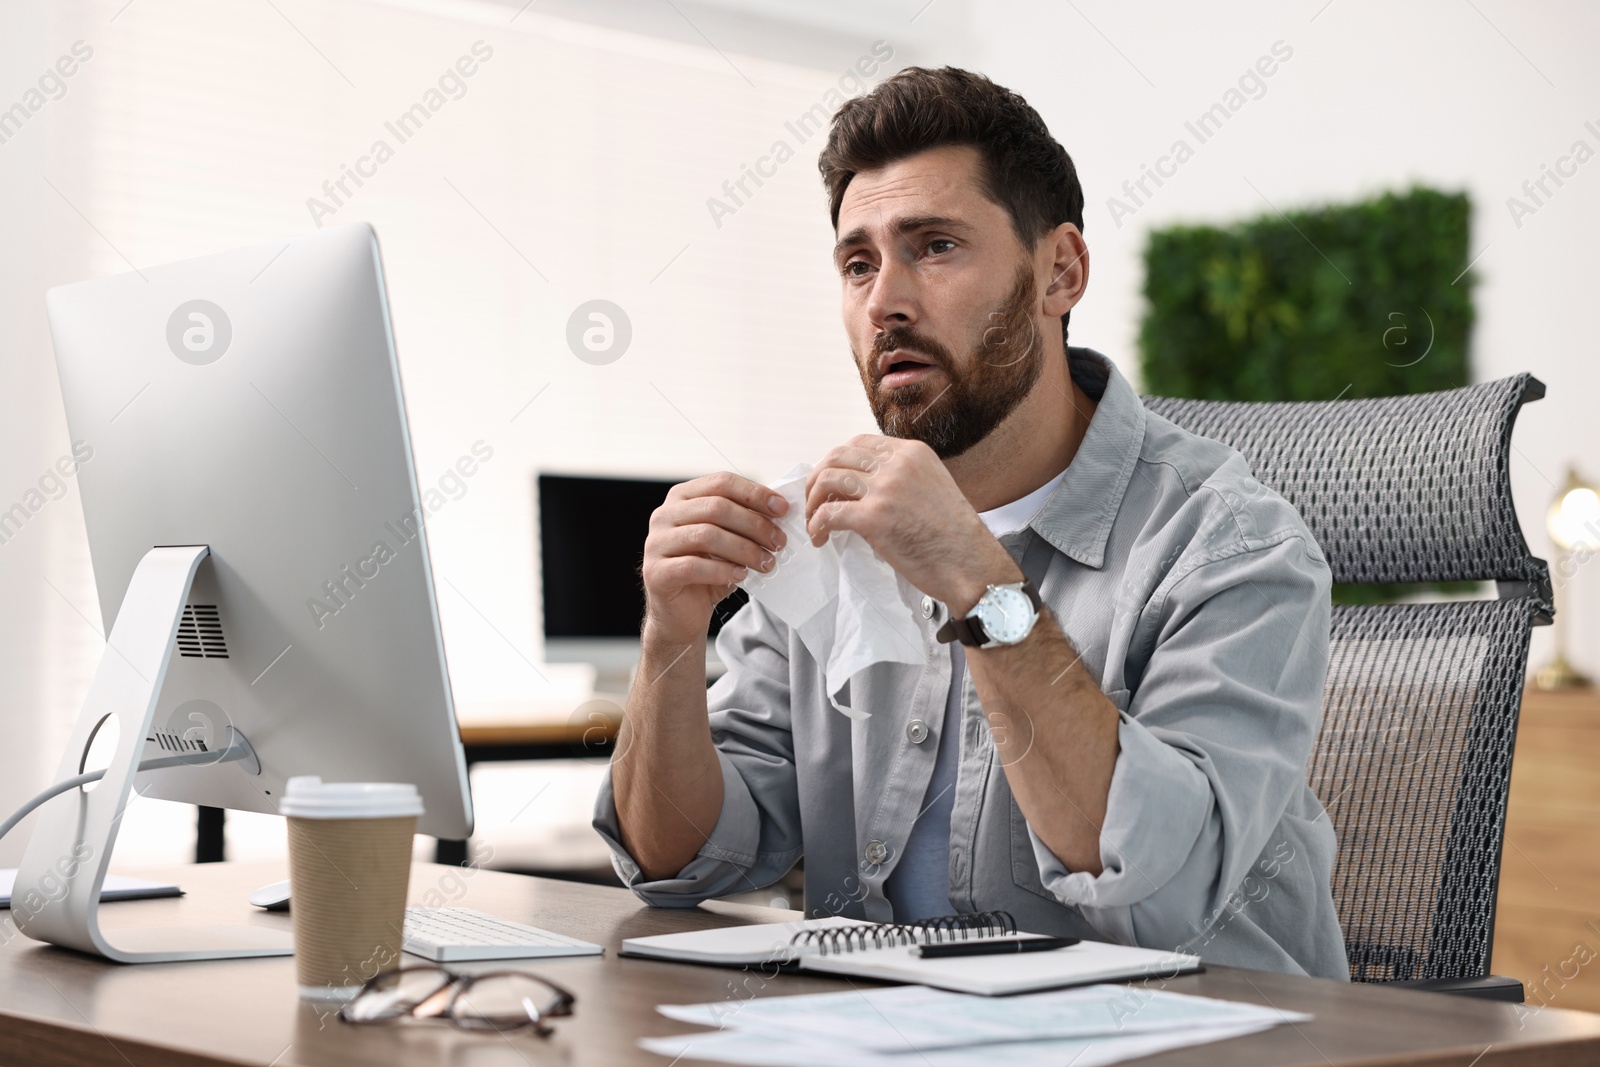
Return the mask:
[[[1024,248],[1062,222],[1083,229],[1078,171],[1045,120],[1011,90],[957,67],[906,67],[834,112],[827,147],[816,162],[834,229],[845,189],[859,171],[947,144],[978,149],[984,195],[1011,216]],[[1061,317],[1062,341],[1067,318],[1070,312]]]

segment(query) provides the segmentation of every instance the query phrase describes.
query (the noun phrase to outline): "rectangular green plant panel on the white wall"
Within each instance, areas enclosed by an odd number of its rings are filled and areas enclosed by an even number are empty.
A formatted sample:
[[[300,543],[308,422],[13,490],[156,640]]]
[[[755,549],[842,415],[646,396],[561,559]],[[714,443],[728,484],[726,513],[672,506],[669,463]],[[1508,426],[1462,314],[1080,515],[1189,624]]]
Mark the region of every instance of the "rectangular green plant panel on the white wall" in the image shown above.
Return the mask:
[[[1466,386],[1470,214],[1466,194],[1413,187],[1226,227],[1154,230],[1139,330],[1144,390],[1338,400]],[[1339,585],[1334,600],[1405,592]]]

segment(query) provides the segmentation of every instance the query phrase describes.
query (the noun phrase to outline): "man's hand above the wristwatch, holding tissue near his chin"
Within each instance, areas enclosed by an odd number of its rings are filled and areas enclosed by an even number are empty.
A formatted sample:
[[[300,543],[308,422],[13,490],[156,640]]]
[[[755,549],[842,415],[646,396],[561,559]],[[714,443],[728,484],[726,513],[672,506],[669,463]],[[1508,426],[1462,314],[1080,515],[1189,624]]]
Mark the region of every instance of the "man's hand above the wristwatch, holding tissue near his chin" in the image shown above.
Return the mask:
[[[944,462],[922,442],[862,434],[806,478],[806,531],[866,537],[912,585],[965,616],[990,584],[1022,581],[1011,553],[973,510]]]

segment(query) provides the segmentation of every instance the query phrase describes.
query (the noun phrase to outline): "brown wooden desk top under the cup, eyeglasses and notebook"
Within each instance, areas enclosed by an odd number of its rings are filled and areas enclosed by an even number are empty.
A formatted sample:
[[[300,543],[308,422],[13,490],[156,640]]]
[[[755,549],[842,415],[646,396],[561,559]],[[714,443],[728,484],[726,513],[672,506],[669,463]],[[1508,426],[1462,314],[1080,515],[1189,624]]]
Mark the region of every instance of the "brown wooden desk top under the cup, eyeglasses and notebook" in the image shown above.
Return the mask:
[[[206,864],[141,873],[173,878],[189,896],[107,904],[101,910],[107,929],[179,921],[288,923],[288,917],[254,912],[245,904],[251,888],[282,877],[277,865]],[[16,934],[6,920],[3,931],[10,941],[0,945],[0,1064],[669,1067],[662,1057],[638,1049],[637,1038],[696,1027],[656,1014],[658,1003],[726,1000],[734,992],[739,997],[830,992],[851,985],[798,976],[763,984],[758,974],[741,976],[733,969],[616,957],[622,937],[778,921],[792,918],[792,912],[731,904],[654,910],[624,889],[419,864],[411,880],[413,901],[430,889],[464,907],[606,945],[600,958],[531,965],[578,993],[578,1014],[562,1019],[554,1038],[472,1035],[432,1024],[354,1029],[334,1019],[325,1022],[314,1008],[299,1003],[291,958],[118,966],[40,945]],[[1317,1017],[1299,1027],[1282,1025],[1138,1061],[1152,1067],[1346,1062],[1363,1067],[1554,1067],[1600,1062],[1600,1016],[1557,1008],[1518,1016],[1510,1005],[1234,968],[1184,976],[1165,987],[1309,1011]],[[981,1062],[982,1056],[978,1059]],[[678,1067],[690,1062],[682,1059]]]

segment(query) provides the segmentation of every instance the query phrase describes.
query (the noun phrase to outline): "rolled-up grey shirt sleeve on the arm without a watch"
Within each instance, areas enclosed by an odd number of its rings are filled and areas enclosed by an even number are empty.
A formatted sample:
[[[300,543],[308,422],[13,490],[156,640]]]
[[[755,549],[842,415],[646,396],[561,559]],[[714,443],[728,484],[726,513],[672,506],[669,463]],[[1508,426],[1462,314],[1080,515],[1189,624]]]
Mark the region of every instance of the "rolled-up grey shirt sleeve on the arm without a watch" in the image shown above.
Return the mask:
[[[656,907],[694,907],[707,897],[758,889],[800,859],[787,627],[747,603],[717,635],[717,656],[728,673],[706,699],[722,768],[722,811],[694,859],[672,878],[645,878],[622,846],[610,768],[595,798],[594,829],[611,848],[611,865]],[[613,766],[630,755],[613,755]]]

